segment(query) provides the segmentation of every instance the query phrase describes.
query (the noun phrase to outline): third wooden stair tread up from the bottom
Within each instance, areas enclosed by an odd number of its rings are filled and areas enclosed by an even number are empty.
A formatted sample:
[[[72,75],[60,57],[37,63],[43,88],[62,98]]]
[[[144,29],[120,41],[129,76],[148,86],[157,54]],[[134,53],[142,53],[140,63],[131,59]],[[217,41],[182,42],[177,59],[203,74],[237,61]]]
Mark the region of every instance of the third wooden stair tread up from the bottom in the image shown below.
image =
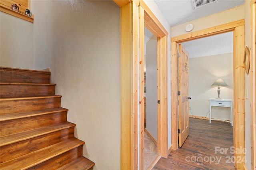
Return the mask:
[[[49,125],[49,126],[40,127],[40,128],[34,128],[31,130],[26,130],[26,131],[14,133],[14,134],[9,134],[6,136],[1,136],[0,137],[0,139],[1,139],[0,146],[12,144],[15,142],[20,142],[22,140],[34,138],[36,136],[56,132],[58,130],[75,127],[75,126],[76,126],[76,124],[74,124],[74,123],[62,122],[62,123],[58,123],[58,124],[54,124],[54,125]]]

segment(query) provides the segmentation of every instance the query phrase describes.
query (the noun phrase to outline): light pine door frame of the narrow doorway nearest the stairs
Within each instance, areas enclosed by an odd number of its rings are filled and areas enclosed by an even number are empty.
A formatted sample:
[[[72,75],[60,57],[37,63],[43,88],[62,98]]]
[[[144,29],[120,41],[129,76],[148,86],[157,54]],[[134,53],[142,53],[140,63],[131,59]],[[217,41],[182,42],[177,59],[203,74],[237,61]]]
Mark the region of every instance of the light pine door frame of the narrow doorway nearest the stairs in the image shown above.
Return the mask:
[[[163,157],[168,155],[168,32],[143,0],[114,2],[121,15],[120,169],[144,169],[144,25],[158,38],[158,155]]]

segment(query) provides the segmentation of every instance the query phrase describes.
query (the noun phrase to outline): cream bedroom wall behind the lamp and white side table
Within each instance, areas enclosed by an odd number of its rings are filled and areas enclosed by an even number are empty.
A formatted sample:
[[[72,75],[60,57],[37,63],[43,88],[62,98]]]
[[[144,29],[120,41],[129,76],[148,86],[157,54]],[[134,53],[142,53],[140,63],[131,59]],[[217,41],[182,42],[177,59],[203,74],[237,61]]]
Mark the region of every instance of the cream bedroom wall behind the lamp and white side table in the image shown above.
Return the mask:
[[[217,98],[217,79],[223,79],[228,87],[220,87],[220,98],[233,100],[233,53],[210,55],[189,59],[188,93],[190,115],[209,117],[209,98]],[[212,117],[230,120],[230,108],[212,107]]]

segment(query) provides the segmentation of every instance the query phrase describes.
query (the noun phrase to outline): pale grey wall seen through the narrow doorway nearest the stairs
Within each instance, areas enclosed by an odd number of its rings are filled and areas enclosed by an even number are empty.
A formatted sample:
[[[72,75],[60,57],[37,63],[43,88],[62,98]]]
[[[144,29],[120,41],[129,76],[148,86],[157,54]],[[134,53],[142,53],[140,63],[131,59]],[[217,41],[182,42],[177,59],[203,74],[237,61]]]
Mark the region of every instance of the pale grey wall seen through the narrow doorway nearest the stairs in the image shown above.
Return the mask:
[[[146,129],[157,141],[157,38],[146,43]]]

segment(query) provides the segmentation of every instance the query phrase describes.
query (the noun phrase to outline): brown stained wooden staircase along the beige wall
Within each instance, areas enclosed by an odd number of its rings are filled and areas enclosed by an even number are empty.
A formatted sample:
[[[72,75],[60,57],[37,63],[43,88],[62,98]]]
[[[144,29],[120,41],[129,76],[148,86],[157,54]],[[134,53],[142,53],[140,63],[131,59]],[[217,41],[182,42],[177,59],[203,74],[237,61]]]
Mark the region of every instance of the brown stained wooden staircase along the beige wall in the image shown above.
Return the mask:
[[[50,72],[0,67],[0,169],[92,170]]]

